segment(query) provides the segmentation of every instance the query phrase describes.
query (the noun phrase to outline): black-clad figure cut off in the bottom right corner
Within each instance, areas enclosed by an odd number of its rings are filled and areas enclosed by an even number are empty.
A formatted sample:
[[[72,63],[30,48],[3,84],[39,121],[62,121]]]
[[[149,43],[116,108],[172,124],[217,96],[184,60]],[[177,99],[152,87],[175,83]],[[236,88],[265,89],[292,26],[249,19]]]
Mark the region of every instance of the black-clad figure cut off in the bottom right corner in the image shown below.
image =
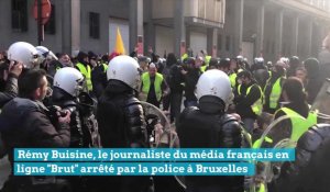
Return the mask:
[[[280,167],[276,192],[326,192],[330,189],[330,125],[317,124],[298,140],[296,160]]]

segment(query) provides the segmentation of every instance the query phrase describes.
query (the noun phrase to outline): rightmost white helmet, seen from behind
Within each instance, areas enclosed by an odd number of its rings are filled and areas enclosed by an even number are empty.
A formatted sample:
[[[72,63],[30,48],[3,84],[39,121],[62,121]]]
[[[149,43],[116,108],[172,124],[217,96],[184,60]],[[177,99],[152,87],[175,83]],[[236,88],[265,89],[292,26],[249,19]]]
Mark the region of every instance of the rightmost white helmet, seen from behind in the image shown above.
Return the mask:
[[[231,98],[230,80],[227,74],[218,69],[211,69],[204,72],[197,82],[197,99],[205,95],[220,98],[226,104]]]

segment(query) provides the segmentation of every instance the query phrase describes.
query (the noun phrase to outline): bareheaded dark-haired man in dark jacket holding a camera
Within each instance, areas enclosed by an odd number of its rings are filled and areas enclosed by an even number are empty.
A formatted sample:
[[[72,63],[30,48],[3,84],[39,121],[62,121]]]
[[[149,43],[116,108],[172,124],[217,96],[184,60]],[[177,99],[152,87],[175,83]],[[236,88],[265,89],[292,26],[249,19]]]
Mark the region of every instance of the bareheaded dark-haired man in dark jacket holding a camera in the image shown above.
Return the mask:
[[[13,170],[14,148],[57,148],[68,147],[70,112],[65,116],[52,114],[42,103],[47,93],[47,79],[44,70],[31,69],[19,79],[19,97],[8,102],[0,114],[1,137]],[[57,116],[58,115],[58,116]],[[52,123],[52,122],[56,122]],[[10,176],[3,192],[40,191],[33,185],[34,177]]]

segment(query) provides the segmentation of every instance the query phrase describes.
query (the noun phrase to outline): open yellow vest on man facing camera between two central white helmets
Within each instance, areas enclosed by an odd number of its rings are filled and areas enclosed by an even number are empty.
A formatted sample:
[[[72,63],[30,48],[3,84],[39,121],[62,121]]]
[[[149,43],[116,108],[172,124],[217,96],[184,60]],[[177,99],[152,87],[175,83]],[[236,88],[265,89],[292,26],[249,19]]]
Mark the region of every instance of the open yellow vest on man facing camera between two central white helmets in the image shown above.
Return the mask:
[[[162,86],[163,79],[164,79],[163,76],[161,74],[156,72],[155,81],[154,81],[154,88],[155,88],[155,93],[156,93],[157,101],[161,101],[161,99],[162,99],[161,86]],[[142,92],[144,94],[146,94],[146,97],[145,97],[145,100],[146,100],[147,94],[148,94],[148,90],[150,90],[150,86],[151,86],[148,72],[144,72],[142,75],[142,83],[143,83]]]

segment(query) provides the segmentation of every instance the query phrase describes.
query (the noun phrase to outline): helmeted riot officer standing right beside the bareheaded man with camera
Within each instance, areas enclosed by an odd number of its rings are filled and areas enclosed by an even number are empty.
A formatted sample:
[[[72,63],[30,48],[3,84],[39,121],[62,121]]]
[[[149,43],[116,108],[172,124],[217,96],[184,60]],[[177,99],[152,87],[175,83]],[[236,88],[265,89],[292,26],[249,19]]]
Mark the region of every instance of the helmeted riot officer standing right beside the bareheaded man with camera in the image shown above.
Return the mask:
[[[92,114],[94,103],[84,91],[84,76],[75,68],[59,69],[54,77],[52,103],[72,112],[70,147],[99,147],[98,126]],[[84,95],[84,97],[81,97]]]

